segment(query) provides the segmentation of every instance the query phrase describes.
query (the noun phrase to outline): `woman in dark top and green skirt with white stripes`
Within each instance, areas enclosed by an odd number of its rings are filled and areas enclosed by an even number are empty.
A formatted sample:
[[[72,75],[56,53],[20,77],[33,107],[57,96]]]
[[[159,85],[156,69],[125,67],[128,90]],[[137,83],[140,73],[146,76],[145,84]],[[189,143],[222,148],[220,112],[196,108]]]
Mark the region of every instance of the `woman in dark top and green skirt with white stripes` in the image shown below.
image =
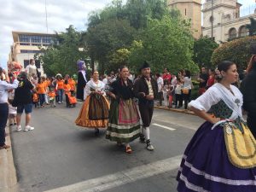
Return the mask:
[[[133,101],[132,81],[128,67],[120,67],[120,78],[111,84],[112,98],[106,138],[118,144],[125,143],[125,152],[131,154],[130,143],[140,136],[137,106]]]

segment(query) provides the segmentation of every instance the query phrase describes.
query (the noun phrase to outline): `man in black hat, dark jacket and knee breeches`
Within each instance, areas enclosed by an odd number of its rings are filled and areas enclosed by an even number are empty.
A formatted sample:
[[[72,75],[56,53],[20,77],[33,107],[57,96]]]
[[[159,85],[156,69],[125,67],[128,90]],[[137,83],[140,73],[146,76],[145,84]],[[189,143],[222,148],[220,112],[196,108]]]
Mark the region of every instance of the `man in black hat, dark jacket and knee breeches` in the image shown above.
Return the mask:
[[[139,100],[139,111],[143,120],[141,142],[147,143],[148,150],[154,150],[149,138],[149,125],[154,111],[154,98],[157,98],[157,83],[150,77],[150,67],[145,61],[140,68],[143,76],[137,79],[134,84],[134,94]]]

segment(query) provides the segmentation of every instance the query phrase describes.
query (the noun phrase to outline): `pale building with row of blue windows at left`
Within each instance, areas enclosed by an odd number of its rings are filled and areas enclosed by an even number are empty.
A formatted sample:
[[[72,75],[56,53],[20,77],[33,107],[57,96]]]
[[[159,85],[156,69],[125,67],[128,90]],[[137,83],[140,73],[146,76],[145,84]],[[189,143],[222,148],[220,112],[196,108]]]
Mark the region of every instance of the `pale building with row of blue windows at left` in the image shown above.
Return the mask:
[[[41,54],[39,47],[47,47],[53,43],[54,34],[35,32],[12,32],[14,44],[9,53],[9,62],[19,62],[24,68],[34,55]],[[44,74],[42,63],[36,61],[36,66],[41,74]]]

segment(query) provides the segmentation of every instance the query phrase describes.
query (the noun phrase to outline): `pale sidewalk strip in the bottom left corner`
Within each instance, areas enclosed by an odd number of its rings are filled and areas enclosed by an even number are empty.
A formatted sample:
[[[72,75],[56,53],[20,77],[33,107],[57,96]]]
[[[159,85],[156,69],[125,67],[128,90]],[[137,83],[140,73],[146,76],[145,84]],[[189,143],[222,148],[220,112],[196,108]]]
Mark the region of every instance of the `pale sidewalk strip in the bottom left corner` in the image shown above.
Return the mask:
[[[6,128],[6,143],[11,145],[10,128]],[[18,184],[12,148],[0,150],[0,191],[17,192]]]

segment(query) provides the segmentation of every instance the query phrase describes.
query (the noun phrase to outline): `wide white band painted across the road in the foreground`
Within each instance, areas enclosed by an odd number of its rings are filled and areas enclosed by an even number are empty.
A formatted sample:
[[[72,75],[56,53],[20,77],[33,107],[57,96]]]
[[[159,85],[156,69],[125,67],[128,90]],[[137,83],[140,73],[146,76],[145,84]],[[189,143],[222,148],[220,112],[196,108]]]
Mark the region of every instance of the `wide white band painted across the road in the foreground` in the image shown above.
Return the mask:
[[[137,166],[122,172],[92,178],[84,182],[74,183],[65,187],[51,189],[45,192],[100,192],[113,189],[126,183],[152,177],[164,172],[170,172],[179,167],[182,155],[177,155],[166,160],[158,160],[144,166]]]

